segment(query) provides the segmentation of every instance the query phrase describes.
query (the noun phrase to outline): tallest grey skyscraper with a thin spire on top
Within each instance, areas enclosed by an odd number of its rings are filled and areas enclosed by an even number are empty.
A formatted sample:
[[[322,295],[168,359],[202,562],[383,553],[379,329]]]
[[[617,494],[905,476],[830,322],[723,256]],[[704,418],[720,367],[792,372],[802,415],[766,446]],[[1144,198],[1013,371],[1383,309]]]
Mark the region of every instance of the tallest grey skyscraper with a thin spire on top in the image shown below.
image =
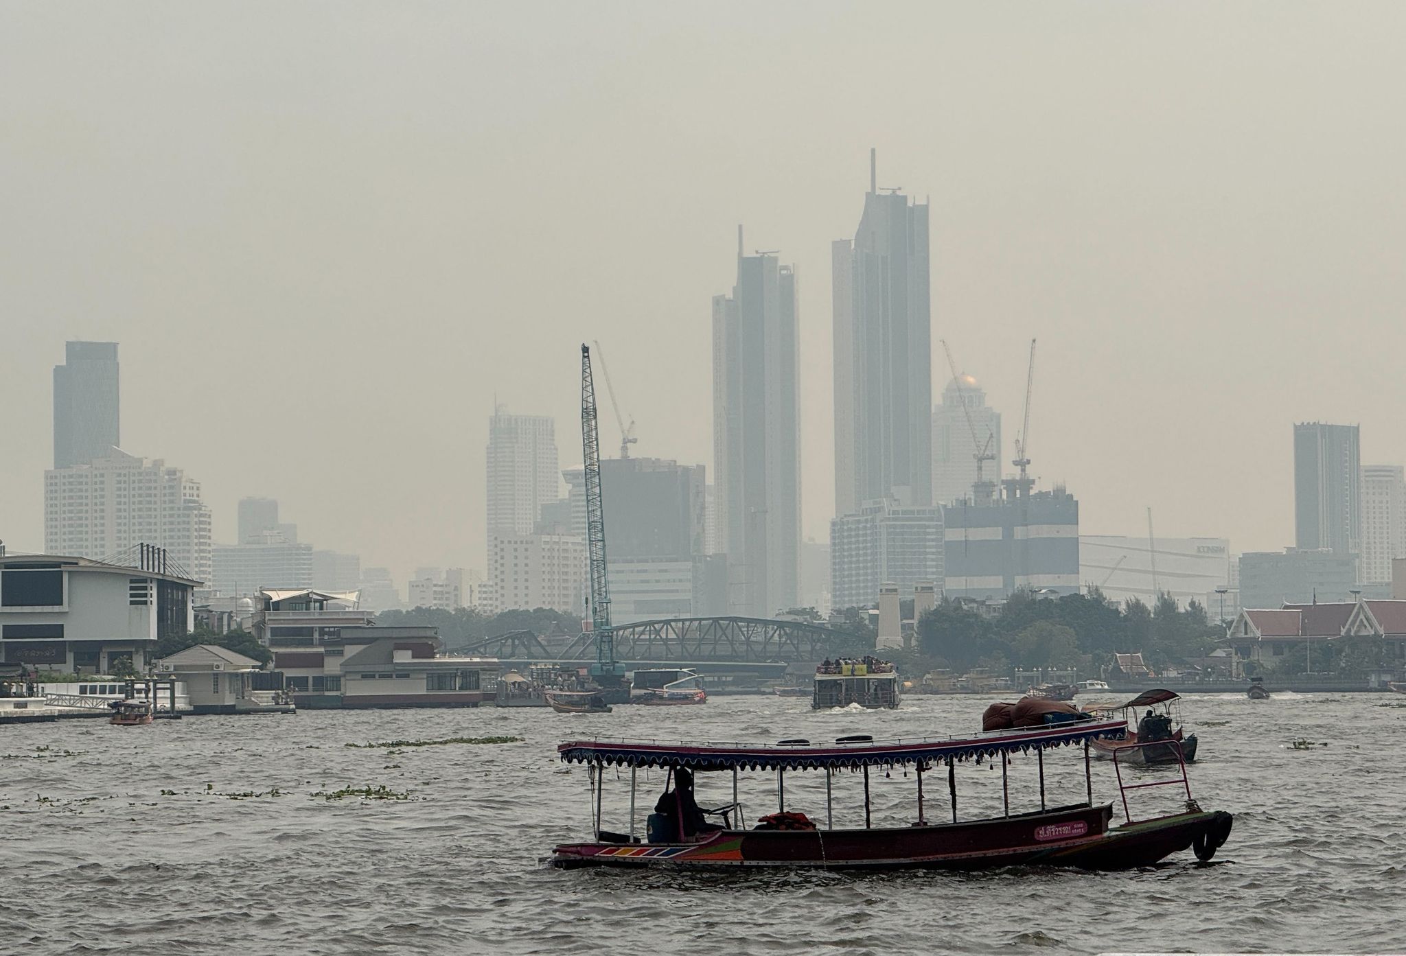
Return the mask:
[[[835,513],[932,502],[928,205],[880,191],[873,150],[853,240],[831,243]]]

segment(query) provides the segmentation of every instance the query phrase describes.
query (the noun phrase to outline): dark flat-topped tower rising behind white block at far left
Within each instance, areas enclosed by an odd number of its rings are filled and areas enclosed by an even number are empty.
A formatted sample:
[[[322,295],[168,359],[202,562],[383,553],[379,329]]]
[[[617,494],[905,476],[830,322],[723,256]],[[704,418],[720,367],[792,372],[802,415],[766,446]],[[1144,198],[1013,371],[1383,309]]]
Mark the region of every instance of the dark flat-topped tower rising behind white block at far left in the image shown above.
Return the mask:
[[[69,342],[53,367],[53,467],[70,468],[120,444],[115,342]]]

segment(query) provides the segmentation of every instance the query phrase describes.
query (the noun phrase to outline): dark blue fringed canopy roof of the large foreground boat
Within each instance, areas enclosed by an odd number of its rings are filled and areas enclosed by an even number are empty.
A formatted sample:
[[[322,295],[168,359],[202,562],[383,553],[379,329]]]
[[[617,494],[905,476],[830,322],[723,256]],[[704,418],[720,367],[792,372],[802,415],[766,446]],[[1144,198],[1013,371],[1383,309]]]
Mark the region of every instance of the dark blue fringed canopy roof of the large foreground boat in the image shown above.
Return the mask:
[[[969,737],[856,739],[818,744],[723,744],[675,741],[595,739],[568,741],[557,747],[567,763],[609,763],[616,766],[686,766],[699,770],[804,770],[821,768],[893,766],[896,763],[938,763],[967,761],[997,754],[1047,749],[1090,739],[1122,739],[1123,720],[1090,720],[1022,727],[972,734]]]

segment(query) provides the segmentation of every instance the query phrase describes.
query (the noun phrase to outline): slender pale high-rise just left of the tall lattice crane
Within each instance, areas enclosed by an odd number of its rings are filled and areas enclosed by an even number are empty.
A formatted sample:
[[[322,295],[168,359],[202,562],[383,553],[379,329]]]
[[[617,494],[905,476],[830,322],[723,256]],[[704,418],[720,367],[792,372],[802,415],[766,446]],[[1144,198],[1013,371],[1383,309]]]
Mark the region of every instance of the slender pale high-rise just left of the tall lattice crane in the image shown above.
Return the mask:
[[[531,534],[541,506],[560,498],[555,423],[546,415],[488,419],[488,534]]]

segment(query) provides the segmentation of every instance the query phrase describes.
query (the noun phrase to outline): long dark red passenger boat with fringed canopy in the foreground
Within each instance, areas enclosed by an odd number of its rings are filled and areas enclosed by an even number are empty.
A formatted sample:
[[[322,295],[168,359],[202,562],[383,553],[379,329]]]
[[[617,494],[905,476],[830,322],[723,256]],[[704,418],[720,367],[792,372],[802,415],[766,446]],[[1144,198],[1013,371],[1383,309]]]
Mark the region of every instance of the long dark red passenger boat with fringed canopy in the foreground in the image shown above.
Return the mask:
[[[561,744],[557,751],[568,763],[592,769],[592,839],[558,845],[550,863],[558,867],[800,867],[800,869],[987,869],[1018,863],[1076,866],[1121,870],[1147,866],[1191,848],[1209,860],[1230,834],[1232,817],[1206,811],[1191,797],[1185,765],[1175,779],[1123,783],[1125,822],[1111,825],[1111,803],[1094,803],[1090,769],[1091,741],[1119,738],[1126,731],[1121,720],[1087,720],[1045,727],[990,731],[953,738],[922,738],[875,742],[868,737],[841,738],[834,744],[811,745],[792,739],[765,744],[668,744],[658,741],[582,739]],[[1078,747],[1084,755],[1087,800],[1069,806],[1047,806],[1045,754],[1062,747]],[[1140,747],[1140,745],[1135,745]],[[1010,811],[1007,763],[1010,755],[1035,752],[1039,761],[1040,810]],[[957,804],[957,766],[969,761],[995,758],[1001,763],[1002,803],[1000,817],[966,818]],[[600,796],[607,766],[630,768],[630,828],[612,832],[602,827]],[[903,827],[873,827],[869,773],[873,768],[912,766],[917,770],[917,817]],[[1118,756],[1114,758],[1118,768]],[[703,814],[723,815],[718,829],[692,838],[651,842],[637,835],[636,777],[640,768],[664,768],[672,779],[679,769],[731,770],[733,804]],[[935,810],[925,800],[934,770],[946,769],[948,800]],[[742,829],[738,775],[765,772],[776,782],[778,813],[762,818],[761,827]],[[825,825],[786,807],[786,777],[792,773],[825,775]],[[865,827],[835,828],[831,779],[839,772],[862,772],[865,779]],[[941,780],[941,776],[938,777]],[[1133,820],[1128,790],[1147,786],[1185,789],[1184,808],[1168,815]],[[692,793],[692,792],[690,792]],[[665,806],[668,806],[665,803]],[[683,810],[679,810],[681,818]],[[950,814],[950,820],[948,815]],[[658,815],[658,814],[655,814]],[[938,815],[942,818],[939,820]],[[654,821],[650,821],[651,824]],[[676,835],[682,827],[650,827],[650,832]]]

